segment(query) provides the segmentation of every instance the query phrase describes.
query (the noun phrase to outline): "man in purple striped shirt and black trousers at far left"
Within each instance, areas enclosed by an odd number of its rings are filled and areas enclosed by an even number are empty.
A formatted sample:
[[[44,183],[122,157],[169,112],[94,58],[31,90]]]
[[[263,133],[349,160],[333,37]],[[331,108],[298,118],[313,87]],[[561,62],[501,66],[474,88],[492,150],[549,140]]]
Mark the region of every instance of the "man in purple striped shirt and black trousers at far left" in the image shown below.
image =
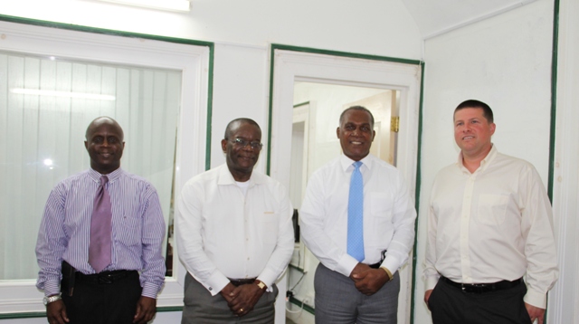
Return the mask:
[[[114,119],[94,119],[84,145],[90,169],[52,189],[38,233],[36,286],[44,291],[48,321],[147,323],[155,315],[166,272],[161,253],[166,229],[157,191],[120,168],[125,142]],[[109,264],[97,271],[89,263],[89,247],[100,186],[109,196],[111,233],[104,235],[110,237]]]

